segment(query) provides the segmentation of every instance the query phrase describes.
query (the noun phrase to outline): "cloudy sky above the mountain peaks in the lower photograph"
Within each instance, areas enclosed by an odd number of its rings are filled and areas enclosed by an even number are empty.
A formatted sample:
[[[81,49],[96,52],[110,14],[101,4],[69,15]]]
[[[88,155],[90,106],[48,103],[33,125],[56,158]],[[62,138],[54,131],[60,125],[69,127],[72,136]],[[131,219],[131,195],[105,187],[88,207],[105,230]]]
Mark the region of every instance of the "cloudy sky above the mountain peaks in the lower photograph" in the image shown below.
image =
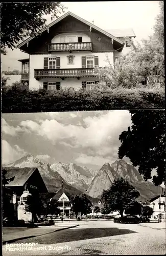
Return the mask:
[[[130,125],[124,110],[2,114],[2,163],[32,154],[100,169],[118,159],[118,137]]]

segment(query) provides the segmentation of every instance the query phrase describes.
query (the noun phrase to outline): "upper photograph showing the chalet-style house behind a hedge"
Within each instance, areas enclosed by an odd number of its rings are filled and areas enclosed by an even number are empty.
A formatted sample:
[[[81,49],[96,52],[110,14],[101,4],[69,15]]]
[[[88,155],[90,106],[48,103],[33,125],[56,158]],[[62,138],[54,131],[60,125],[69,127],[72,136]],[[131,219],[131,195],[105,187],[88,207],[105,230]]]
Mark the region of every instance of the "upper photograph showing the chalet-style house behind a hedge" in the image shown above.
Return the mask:
[[[162,1],[2,4],[1,47],[3,113],[165,108]]]

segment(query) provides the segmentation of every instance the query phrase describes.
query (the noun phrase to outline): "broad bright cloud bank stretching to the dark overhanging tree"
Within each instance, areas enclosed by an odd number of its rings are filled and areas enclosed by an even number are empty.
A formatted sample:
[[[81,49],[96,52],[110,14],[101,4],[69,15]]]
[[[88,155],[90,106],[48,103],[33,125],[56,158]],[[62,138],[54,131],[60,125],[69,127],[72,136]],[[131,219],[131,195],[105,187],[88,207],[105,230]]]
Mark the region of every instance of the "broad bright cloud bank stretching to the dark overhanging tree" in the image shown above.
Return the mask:
[[[76,115],[76,114],[75,114]],[[84,126],[63,124],[57,120],[40,120],[39,123],[27,120],[20,123],[21,129],[44,136],[53,144],[68,139],[67,144],[75,147],[114,147],[118,136],[131,125],[129,111],[109,111],[103,115],[88,116],[83,119]],[[109,149],[105,151],[109,152]],[[101,155],[101,153],[100,153]]]

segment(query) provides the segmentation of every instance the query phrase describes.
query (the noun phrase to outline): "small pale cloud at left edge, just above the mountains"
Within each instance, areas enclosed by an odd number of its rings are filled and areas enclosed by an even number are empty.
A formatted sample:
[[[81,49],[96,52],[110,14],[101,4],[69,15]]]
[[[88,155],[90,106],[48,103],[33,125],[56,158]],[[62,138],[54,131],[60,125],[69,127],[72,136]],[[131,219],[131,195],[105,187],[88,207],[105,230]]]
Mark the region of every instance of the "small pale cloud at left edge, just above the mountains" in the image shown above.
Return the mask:
[[[13,147],[6,141],[2,140],[2,163],[9,164],[17,159],[25,156],[27,152],[20,148],[18,145]]]

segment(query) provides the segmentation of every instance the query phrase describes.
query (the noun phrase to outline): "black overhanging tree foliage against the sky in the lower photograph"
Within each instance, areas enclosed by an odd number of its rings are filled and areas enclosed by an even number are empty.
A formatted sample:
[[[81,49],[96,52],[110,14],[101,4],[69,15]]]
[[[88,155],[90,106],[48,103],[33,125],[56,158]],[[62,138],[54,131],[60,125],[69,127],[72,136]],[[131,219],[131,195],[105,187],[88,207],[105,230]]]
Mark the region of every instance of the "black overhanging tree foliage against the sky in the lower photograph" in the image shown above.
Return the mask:
[[[138,166],[144,180],[151,179],[157,186],[165,184],[165,111],[138,110],[130,111],[132,126],[121,133],[118,158],[128,157],[133,166]]]

